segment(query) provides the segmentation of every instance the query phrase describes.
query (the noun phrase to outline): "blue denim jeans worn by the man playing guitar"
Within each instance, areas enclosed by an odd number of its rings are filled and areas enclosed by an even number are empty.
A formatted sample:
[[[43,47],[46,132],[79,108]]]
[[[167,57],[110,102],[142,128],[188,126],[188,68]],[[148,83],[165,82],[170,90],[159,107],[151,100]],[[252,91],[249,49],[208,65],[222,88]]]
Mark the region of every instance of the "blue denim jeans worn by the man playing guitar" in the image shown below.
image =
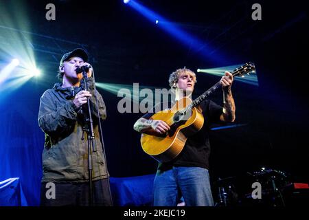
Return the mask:
[[[176,206],[181,196],[185,206],[214,206],[208,170],[192,166],[158,170],[154,181],[154,206]]]

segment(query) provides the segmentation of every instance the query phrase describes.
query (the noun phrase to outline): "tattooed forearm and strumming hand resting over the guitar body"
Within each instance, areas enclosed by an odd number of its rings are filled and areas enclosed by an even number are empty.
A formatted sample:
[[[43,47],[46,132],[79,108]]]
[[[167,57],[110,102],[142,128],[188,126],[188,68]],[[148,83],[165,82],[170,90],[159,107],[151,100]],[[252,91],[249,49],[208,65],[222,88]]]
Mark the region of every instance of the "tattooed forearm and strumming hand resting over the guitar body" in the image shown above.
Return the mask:
[[[162,120],[139,118],[134,124],[134,129],[135,131],[149,135],[163,135],[170,130],[170,126]]]

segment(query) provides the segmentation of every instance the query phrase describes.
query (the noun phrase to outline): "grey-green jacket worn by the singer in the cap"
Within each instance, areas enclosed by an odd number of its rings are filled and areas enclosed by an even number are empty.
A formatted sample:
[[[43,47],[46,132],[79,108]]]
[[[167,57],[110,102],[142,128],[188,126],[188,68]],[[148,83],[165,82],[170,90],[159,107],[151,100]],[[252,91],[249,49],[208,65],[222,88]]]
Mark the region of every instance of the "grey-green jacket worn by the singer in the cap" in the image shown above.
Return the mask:
[[[81,83],[83,87],[84,82]],[[93,180],[106,178],[106,159],[103,157],[102,144],[98,128],[98,113],[95,104],[92,78],[87,78],[91,91],[93,130],[95,133],[96,152],[92,153]],[[76,108],[73,99],[82,88],[62,88],[56,83],[53,89],[47,89],[41,97],[38,112],[38,125],[45,133],[43,150],[43,182],[83,182],[88,175],[87,133],[83,131],[84,115],[87,108]],[[101,119],[106,118],[106,108],[102,96],[98,96]]]

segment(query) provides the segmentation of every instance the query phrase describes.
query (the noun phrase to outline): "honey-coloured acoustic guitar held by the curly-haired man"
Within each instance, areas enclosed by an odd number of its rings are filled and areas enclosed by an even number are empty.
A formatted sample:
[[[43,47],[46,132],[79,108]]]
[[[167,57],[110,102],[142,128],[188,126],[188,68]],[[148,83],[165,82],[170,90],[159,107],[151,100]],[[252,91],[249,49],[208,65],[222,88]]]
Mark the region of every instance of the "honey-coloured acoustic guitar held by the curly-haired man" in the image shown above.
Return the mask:
[[[246,63],[233,70],[233,77],[242,76],[255,71],[253,63]],[[195,100],[182,98],[178,100],[171,109],[159,111],[152,115],[152,120],[163,120],[170,126],[170,131],[164,135],[141,134],[141,147],[148,155],[157,159],[159,162],[169,162],[174,159],[181,151],[187,137],[201,130],[204,124],[204,117],[199,104],[203,102],[214,91],[220,88],[220,82],[205,91]]]

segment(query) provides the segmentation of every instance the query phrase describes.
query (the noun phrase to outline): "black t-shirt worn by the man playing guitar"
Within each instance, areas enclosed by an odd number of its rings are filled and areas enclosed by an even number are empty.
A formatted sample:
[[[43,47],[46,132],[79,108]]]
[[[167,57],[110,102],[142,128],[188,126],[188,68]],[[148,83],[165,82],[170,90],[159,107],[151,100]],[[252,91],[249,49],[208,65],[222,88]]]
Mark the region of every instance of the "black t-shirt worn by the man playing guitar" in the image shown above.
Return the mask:
[[[167,106],[160,103],[161,106]],[[171,107],[170,102],[168,107]],[[200,131],[187,138],[183,151],[167,163],[159,163],[158,169],[167,170],[172,166],[198,166],[203,168],[209,168],[209,125],[211,123],[220,122],[220,115],[222,114],[222,107],[211,100],[204,100],[201,102],[200,107],[203,111],[204,124]],[[149,119],[155,114],[155,108],[153,113],[146,113],[142,118]]]

